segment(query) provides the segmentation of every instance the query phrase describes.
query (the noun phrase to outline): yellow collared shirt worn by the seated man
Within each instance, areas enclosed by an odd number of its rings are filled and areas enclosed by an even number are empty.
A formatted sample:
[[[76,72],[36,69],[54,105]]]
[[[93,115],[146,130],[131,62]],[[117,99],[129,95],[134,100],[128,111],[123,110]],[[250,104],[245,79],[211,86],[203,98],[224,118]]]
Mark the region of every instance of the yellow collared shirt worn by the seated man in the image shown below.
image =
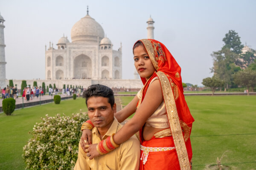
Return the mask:
[[[116,133],[122,125],[114,119],[103,140]],[[92,130],[93,144],[99,143],[100,136],[96,127]],[[136,136],[120,144],[115,150],[90,160],[79,142],[78,159],[74,170],[138,170],[140,166],[140,142]]]

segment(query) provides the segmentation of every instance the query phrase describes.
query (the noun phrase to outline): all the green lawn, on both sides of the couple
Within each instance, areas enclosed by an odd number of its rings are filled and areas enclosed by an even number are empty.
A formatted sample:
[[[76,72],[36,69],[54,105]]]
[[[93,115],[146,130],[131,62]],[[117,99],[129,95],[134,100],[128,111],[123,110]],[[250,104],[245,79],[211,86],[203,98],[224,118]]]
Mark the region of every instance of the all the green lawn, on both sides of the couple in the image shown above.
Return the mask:
[[[122,105],[133,97],[122,96]],[[256,169],[256,96],[186,96],[186,101],[195,118],[191,134],[194,170],[216,164],[217,157],[226,151],[221,162],[233,170]],[[80,109],[87,111],[84,99],[77,98],[61,101],[60,105],[20,109],[12,116],[0,113],[0,170],[24,169],[22,147],[41,117],[71,115]]]

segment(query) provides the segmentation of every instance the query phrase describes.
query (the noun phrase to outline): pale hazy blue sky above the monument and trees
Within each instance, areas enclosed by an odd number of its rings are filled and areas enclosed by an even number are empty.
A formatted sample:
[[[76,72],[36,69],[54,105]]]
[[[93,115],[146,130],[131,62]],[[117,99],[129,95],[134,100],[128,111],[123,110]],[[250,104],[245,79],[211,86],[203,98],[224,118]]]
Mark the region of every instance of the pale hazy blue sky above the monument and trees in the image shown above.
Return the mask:
[[[147,38],[149,16],[154,39],[181,67],[183,82],[201,85],[211,77],[212,51],[235,30],[242,44],[256,49],[256,0],[0,0],[6,26],[7,79],[45,79],[45,45],[65,34],[87,14],[103,27],[117,50],[122,42],[122,78],[134,78],[132,46]]]

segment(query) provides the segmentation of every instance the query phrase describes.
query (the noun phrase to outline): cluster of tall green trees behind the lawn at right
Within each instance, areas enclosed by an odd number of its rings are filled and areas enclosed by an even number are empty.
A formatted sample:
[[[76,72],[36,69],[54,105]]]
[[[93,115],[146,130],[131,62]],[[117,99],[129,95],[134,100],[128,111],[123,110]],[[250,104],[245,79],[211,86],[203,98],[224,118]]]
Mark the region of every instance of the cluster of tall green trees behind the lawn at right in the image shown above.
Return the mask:
[[[203,79],[202,84],[211,88],[212,95],[217,88],[244,87],[253,91],[256,86],[256,51],[249,49],[242,52],[244,45],[241,44],[238,33],[230,30],[222,39],[223,47],[219,51],[213,51],[213,77]]]

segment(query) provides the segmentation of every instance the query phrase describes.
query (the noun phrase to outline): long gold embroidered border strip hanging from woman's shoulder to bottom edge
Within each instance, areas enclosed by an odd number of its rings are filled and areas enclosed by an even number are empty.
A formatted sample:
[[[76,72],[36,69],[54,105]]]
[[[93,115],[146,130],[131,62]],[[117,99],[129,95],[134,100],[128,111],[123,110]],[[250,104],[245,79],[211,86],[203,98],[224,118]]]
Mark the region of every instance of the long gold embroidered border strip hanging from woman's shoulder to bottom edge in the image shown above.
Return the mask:
[[[166,105],[166,111],[172,131],[172,137],[180,163],[180,170],[190,170],[189,156],[186,150],[185,141],[180,127],[180,119],[177,113],[171,84],[168,77],[163,72],[158,71],[157,76],[159,77],[163,89],[163,99]]]

